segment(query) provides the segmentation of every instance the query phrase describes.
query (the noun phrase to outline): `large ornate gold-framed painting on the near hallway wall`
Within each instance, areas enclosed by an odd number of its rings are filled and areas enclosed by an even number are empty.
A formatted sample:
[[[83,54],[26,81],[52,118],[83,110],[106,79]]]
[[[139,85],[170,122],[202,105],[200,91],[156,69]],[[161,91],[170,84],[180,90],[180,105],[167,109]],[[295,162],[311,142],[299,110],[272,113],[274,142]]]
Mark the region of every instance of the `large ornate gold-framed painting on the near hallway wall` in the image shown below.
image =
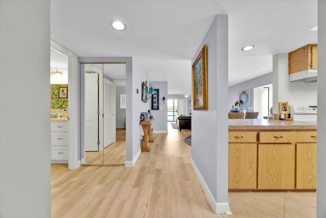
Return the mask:
[[[208,110],[207,57],[206,56],[207,56],[207,49],[205,44],[192,66],[194,110]]]

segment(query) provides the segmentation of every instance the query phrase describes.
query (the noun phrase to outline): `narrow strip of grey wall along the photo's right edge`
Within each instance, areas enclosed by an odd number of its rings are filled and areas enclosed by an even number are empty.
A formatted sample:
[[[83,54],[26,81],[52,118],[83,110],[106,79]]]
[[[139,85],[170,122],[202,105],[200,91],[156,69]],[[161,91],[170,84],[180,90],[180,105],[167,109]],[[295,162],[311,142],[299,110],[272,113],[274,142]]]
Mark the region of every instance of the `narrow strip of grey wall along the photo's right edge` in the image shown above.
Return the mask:
[[[326,1],[318,1],[318,83],[326,83]],[[318,86],[317,217],[326,217],[326,86]]]

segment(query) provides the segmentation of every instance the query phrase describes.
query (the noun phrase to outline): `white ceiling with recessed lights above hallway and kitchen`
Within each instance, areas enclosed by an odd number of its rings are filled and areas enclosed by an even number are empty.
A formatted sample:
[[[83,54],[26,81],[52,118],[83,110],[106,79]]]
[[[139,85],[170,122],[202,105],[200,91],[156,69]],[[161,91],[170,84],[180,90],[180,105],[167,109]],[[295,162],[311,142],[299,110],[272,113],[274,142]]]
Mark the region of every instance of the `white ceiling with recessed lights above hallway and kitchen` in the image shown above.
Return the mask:
[[[317,0],[51,1],[51,39],[80,57],[137,56],[169,94],[191,93],[191,60],[216,14],[229,18],[229,86],[273,70],[273,55],[317,43]],[[115,31],[110,21],[126,23]],[[252,51],[241,47],[255,44]]]

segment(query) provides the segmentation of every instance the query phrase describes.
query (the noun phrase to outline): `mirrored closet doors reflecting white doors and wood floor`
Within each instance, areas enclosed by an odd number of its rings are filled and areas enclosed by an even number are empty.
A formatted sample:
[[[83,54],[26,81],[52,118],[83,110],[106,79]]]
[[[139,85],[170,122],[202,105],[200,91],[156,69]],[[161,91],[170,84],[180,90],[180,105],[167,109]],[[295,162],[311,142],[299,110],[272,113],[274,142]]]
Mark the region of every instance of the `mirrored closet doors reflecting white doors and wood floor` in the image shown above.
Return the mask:
[[[116,140],[116,86],[125,83],[125,63],[81,65],[85,75],[83,165],[124,165],[126,144]]]

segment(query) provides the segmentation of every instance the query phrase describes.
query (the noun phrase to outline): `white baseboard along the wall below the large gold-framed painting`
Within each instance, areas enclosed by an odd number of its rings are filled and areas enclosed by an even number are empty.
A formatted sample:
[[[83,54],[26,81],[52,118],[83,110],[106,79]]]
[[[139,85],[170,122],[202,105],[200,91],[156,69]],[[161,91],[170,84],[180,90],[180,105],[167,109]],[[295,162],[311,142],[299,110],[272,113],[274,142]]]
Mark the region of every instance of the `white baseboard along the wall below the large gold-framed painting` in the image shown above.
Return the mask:
[[[190,159],[193,167],[194,167],[194,170],[195,170],[195,173],[200,181],[200,183],[202,184],[202,187],[205,191],[205,194],[208,198],[208,201],[211,205],[211,207],[213,208],[213,210],[215,211],[216,214],[221,214],[221,213],[226,213],[228,215],[231,215],[232,212],[230,210],[230,206],[229,206],[229,202],[216,202],[213,195],[212,195],[212,192],[209,190],[208,188],[208,185],[206,184],[203,176],[201,175],[201,173],[199,172],[199,169],[198,167],[196,166],[193,158]]]

